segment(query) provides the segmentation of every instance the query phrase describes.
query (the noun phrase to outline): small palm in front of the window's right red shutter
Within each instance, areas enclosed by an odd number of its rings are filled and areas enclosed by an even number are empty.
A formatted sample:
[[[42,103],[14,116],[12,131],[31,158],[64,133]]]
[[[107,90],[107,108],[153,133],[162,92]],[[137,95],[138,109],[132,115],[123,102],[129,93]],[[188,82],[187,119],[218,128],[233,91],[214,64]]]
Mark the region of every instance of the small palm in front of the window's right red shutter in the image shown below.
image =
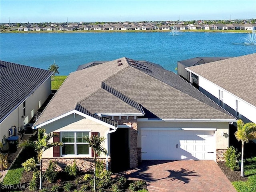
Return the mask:
[[[92,135],[92,137],[85,137],[85,141],[88,142],[89,147],[91,147],[94,150],[94,170],[93,170],[93,190],[96,191],[96,154],[100,156],[101,153],[108,154],[108,151],[101,146],[101,144],[104,142],[105,138],[100,137],[98,135]]]

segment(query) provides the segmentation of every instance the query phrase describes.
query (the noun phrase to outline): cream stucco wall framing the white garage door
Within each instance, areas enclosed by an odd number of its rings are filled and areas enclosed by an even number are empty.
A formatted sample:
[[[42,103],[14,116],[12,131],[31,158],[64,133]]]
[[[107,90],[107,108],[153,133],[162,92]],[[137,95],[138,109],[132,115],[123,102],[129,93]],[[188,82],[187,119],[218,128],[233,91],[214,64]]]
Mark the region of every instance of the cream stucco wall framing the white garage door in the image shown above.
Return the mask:
[[[228,122],[138,122],[138,134],[140,128],[216,128],[214,137],[217,149],[228,148],[228,137],[221,136],[222,132],[228,134]],[[141,137],[138,136],[138,147],[141,147]]]

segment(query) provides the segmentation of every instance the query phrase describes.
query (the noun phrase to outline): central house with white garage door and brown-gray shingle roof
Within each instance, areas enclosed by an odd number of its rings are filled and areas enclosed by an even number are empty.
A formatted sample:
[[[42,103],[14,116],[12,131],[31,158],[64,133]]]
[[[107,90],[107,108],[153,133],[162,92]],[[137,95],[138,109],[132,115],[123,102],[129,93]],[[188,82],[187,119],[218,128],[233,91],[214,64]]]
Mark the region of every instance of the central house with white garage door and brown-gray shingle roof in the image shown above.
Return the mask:
[[[46,150],[58,170],[92,168],[84,136],[106,138],[108,169],[136,168],[142,160],[223,160],[228,127],[236,118],[174,72],[119,58],[68,75],[33,125],[54,132],[64,147]],[[120,150],[121,149],[121,150]]]

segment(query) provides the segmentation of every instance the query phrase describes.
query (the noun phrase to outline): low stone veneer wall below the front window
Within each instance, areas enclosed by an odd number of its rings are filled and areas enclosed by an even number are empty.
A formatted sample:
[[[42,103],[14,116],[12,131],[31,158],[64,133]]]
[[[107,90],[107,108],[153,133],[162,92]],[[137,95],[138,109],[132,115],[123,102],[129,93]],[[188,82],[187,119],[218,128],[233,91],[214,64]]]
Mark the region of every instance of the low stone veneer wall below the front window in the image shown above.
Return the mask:
[[[93,172],[94,168],[94,158],[43,158],[42,159],[42,170],[46,171],[49,166],[50,160],[52,162],[57,163],[57,171],[64,171],[64,168],[68,165],[72,166],[74,163],[74,159],[76,160],[76,166],[80,171],[83,172]],[[97,158],[97,160],[101,160],[102,162],[106,162],[106,158]]]

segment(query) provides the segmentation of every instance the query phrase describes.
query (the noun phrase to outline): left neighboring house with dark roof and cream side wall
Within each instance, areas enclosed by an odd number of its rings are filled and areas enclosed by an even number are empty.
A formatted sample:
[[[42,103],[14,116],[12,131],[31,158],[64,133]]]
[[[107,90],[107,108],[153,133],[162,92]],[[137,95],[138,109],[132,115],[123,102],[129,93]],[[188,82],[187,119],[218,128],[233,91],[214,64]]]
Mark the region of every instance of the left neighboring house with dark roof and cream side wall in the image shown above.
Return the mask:
[[[7,149],[6,139],[17,136],[51,94],[52,72],[5,61],[0,71],[0,142]]]

